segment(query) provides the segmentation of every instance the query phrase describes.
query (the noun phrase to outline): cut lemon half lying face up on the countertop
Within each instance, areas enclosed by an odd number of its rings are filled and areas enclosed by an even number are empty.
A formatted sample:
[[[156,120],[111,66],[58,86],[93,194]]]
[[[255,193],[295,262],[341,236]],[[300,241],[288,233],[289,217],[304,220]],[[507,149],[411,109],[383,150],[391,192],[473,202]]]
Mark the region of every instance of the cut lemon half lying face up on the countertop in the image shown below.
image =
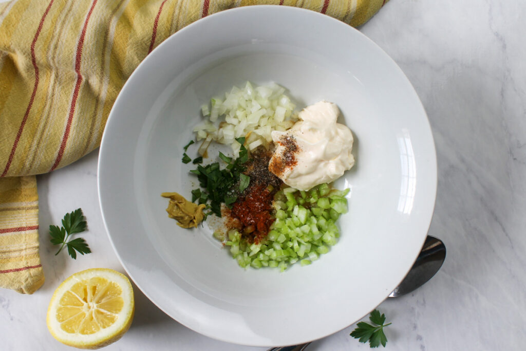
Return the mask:
[[[47,309],[47,327],[59,342],[99,348],[126,333],[135,310],[128,278],[113,269],[93,268],[58,286]]]

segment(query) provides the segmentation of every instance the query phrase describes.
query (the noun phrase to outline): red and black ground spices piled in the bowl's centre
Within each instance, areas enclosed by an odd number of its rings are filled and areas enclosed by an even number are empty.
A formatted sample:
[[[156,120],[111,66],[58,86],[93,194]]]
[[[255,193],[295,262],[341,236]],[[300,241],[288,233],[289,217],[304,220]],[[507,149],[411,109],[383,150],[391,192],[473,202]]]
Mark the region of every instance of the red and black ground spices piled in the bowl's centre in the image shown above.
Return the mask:
[[[236,228],[248,242],[258,244],[267,236],[275,218],[271,213],[274,194],[279,190],[281,180],[268,170],[271,153],[257,151],[245,164],[250,185],[239,195],[230,210],[226,210],[227,227]]]

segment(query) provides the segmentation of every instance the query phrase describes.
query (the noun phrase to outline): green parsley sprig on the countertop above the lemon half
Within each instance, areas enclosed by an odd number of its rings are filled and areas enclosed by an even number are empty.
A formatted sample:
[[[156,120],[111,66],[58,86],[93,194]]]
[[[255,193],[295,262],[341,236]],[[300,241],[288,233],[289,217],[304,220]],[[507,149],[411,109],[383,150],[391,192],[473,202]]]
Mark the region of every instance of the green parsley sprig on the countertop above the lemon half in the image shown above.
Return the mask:
[[[56,225],[49,226],[51,243],[53,245],[61,245],[55,256],[58,255],[64,246],[67,246],[67,252],[73,259],[77,259],[76,251],[81,255],[92,252],[83,238],[76,238],[69,241],[67,240],[70,235],[84,232],[84,230],[87,228],[87,223],[84,220],[82,209],[77,208],[72,213],[66,213],[62,219],[62,225],[62,227],[58,227]]]

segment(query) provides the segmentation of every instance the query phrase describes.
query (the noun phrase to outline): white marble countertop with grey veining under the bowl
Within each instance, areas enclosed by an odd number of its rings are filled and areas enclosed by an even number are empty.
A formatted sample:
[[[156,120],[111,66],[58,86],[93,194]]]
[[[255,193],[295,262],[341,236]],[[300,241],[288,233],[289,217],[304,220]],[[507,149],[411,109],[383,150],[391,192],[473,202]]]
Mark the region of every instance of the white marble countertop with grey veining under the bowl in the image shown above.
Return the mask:
[[[446,243],[440,272],[380,305],[389,350],[519,350],[526,339],[526,2],[392,0],[360,30],[407,74],[429,115],[438,157],[430,234]],[[95,266],[124,272],[106,235],[95,151],[38,177],[46,283],[32,296],[0,291],[2,349],[70,349],[48,333],[49,299],[62,280]],[[93,253],[55,254],[46,228],[82,207]],[[129,332],[109,350],[264,350],[199,335],[136,292]],[[369,349],[355,326],[309,351]]]

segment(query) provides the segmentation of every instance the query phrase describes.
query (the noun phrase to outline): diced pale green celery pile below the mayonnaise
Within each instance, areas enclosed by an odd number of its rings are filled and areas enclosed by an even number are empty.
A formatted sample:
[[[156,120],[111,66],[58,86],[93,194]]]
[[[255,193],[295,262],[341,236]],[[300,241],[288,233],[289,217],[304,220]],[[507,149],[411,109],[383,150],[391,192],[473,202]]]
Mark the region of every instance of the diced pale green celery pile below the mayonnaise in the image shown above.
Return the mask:
[[[340,232],[336,220],[347,212],[348,192],[330,189],[327,184],[307,192],[284,188],[275,196],[276,220],[265,240],[249,243],[236,229],[230,230],[228,237],[218,231],[214,236],[226,240],[241,267],[268,266],[283,271],[297,262],[309,265],[337,243]]]

